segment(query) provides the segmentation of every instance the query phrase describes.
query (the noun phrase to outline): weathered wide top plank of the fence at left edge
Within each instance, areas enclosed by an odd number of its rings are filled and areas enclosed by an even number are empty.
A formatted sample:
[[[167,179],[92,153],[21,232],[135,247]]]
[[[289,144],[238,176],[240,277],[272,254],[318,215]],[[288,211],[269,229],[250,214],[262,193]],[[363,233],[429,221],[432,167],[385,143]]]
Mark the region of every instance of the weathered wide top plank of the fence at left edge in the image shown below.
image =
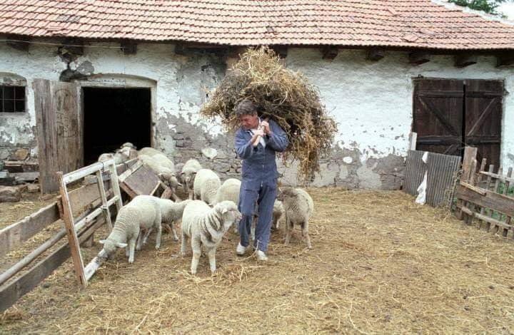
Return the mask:
[[[0,230],[0,257],[59,219],[59,207],[54,202]]]

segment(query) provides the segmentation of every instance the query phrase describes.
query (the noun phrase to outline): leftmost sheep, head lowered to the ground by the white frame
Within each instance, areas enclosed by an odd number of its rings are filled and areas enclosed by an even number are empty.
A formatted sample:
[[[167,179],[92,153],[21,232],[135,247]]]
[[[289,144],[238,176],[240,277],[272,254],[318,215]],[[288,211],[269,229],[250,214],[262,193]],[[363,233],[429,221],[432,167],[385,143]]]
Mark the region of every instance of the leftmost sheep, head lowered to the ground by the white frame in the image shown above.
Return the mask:
[[[111,234],[106,239],[99,241],[104,244],[104,248],[99,254],[100,257],[110,258],[117,248],[126,248],[129,263],[133,263],[136,240],[142,229],[156,228],[156,249],[161,247],[162,210],[156,199],[158,198],[150,195],[138,195],[127,205],[121,207]]]

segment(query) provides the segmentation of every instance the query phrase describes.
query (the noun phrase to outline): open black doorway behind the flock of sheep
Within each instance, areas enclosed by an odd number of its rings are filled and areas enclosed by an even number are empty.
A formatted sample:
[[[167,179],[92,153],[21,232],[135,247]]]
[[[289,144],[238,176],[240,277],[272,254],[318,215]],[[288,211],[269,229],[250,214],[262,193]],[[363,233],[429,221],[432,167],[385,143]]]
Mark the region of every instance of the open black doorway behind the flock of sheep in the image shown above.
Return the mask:
[[[151,146],[150,88],[83,88],[84,163],[123,143]]]

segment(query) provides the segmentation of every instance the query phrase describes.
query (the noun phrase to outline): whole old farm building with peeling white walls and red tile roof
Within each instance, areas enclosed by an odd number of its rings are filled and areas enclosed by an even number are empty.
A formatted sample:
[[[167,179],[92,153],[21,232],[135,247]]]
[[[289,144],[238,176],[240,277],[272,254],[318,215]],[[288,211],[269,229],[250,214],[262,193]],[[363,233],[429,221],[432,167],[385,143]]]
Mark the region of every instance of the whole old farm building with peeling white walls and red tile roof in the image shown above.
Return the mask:
[[[198,110],[263,44],[338,123],[313,186],[398,189],[412,131],[420,150],[514,163],[514,27],[443,1],[10,0],[0,17],[0,160],[39,159],[42,179],[126,141],[238,175],[233,136]],[[280,172],[297,182],[294,162]]]

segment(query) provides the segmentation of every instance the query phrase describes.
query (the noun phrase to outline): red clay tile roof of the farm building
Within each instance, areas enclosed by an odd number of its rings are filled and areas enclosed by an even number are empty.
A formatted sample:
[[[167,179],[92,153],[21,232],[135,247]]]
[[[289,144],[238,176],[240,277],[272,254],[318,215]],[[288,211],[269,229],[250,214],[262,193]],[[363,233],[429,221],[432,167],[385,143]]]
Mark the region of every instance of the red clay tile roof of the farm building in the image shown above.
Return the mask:
[[[234,46],[514,48],[514,26],[430,0],[2,0],[0,33]]]

